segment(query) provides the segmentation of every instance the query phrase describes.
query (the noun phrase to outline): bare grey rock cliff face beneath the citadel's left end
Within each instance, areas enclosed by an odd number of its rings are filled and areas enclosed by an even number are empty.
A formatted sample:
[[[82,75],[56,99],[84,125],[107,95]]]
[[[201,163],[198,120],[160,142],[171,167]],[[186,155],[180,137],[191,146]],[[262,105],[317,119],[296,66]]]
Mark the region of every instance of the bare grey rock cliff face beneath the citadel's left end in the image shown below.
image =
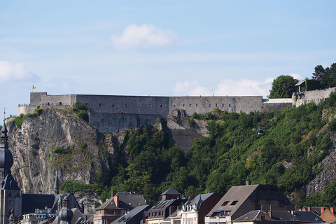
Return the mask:
[[[50,109],[27,118],[21,128],[7,124],[12,173],[24,193],[53,193],[56,169],[61,183],[97,183],[116,160],[114,137],[105,142],[104,134],[73,113]]]

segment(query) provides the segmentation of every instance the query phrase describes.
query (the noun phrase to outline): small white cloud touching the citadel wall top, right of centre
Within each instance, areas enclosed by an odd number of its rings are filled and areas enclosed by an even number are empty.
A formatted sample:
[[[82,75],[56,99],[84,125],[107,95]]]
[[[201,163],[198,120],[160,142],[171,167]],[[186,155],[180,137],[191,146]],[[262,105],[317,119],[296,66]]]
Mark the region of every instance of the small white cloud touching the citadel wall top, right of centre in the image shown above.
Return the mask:
[[[178,81],[174,86],[175,96],[210,96],[212,92],[207,87],[202,87],[197,80]]]

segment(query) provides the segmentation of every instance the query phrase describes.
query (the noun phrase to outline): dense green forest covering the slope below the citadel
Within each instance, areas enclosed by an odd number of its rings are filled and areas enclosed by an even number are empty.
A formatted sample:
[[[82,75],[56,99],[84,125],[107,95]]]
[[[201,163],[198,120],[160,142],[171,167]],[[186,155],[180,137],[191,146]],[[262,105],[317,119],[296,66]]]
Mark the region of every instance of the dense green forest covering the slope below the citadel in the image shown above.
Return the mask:
[[[336,131],[336,93],[321,104],[306,104],[277,113],[227,113],[215,109],[206,115],[194,113],[190,123],[207,120],[208,137],[195,139],[183,153],[170,146],[164,132],[152,126],[128,130],[116,153],[127,153],[111,169],[110,179],[97,185],[65,181],[65,191],[95,190],[102,200],[110,190],[141,191],[150,203],[172,187],[183,195],[215,192],[224,195],[231,186],[246,181],[276,184],[284,193],[295,192],[297,206],[335,206],[336,196],[306,197],[302,187],[321,172],[318,165],[333,142],[328,133]],[[331,120],[330,120],[331,119]],[[165,123],[165,121],[162,121]],[[258,129],[263,134],[258,134]],[[326,190],[336,190],[330,183]],[[330,195],[328,195],[330,197]]]

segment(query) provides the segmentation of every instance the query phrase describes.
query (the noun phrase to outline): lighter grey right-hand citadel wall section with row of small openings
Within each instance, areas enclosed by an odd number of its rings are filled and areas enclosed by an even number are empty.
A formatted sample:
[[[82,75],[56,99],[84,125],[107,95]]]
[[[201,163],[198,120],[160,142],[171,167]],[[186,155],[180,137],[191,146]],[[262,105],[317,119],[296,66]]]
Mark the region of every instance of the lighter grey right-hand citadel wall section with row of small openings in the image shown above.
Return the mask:
[[[208,113],[216,107],[222,111],[249,113],[262,111],[262,96],[257,97],[169,97],[169,113],[183,109],[188,116]]]

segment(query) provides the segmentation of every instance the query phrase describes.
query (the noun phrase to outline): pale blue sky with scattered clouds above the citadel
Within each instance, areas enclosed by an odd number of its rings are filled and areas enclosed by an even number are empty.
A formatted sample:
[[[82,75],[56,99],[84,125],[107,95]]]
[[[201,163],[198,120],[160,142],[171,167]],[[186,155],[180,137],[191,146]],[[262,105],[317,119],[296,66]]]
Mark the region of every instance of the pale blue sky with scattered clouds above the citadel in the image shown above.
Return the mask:
[[[29,92],[262,95],[336,62],[336,1],[0,0],[0,111]]]

